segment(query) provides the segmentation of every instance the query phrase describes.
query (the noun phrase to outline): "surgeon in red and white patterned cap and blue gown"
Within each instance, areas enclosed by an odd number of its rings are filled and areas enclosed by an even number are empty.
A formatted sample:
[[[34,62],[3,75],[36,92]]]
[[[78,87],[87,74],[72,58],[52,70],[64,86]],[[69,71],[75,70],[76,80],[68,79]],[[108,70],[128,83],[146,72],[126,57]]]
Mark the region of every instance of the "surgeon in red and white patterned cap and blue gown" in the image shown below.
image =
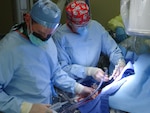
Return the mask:
[[[96,67],[100,55],[109,57],[116,67],[112,77],[115,79],[125,66],[125,60],[116,42],[89,14],[89,7],[84,1],[74,1],[66,6],[66,24],[59,27],[53,35],[58,49],[58,59],[64,71],[85,85],[89,79],[108,81],[105,72]],[[92,85],[90,84],[90,85]]]

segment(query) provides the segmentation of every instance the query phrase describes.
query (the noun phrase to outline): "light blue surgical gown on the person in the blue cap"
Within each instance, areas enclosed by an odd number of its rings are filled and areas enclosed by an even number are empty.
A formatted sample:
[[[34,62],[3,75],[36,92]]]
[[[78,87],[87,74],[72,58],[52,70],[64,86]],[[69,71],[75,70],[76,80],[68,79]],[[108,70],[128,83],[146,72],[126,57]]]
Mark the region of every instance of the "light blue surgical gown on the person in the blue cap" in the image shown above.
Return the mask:
[[[52,103],[54,85],[74,93],[75,83],[61,70],[52,38],[38,47],[12,31],[0,41],[0,111],[20,113],[23,101]]]

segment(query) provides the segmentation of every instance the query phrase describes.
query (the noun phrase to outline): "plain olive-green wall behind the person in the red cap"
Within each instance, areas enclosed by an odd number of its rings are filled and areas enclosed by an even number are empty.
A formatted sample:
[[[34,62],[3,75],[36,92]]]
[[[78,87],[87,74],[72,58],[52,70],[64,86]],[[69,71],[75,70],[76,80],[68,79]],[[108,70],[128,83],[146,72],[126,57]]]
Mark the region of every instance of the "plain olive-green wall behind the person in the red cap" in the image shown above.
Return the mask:
[[[89,0],[91,17],[100,22],[107,29],[107,22],[119,15],[120,0]],[[61,22],[65,22],[65,12],[63,12]]]

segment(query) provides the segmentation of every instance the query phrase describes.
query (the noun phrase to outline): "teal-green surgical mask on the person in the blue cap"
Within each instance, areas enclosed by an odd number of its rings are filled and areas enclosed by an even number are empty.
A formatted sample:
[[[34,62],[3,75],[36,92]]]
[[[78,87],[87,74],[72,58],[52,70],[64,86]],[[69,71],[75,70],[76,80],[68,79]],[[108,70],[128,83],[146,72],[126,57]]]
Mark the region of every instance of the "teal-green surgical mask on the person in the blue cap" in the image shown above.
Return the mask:
[[[30,41],[36,46],[44,46],[47,44],[46,41],[42,41],[41,39],[37,38],[35,35],[33,35],[33,33],[30,33],[28,36]]]

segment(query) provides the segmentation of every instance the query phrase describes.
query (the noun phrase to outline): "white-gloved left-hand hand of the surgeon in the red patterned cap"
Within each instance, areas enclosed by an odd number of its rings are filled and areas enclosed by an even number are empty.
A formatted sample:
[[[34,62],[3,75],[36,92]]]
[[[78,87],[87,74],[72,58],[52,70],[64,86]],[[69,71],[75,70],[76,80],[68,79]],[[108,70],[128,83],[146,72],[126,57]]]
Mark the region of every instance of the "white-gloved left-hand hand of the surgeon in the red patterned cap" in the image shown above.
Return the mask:
[[[103,81],[109,80],[108,75],[106,75],[106,73],[100,68],[86,67],[85,70],[87,76],[92,76],[98,82],[100,82],[101,80]]]

